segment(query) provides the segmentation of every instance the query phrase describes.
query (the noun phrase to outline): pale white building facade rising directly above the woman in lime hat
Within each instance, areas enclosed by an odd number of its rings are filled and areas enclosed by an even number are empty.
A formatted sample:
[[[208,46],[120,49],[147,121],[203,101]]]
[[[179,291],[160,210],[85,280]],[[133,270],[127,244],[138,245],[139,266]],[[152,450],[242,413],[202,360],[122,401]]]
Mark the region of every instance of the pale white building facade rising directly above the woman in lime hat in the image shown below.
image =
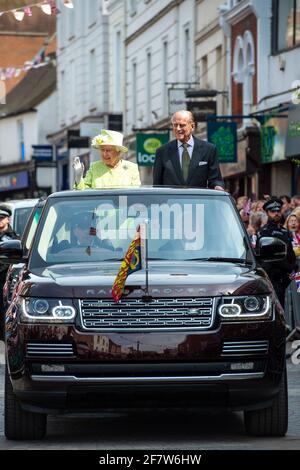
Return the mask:
[[[73,0],[73,4],[72,9],[61,8],[57,17],[59,127],[49,137],[57,147],[59,189],[73,186],[75,156],[81,157],[86,169],[98,158],[88,142],[69,149],[68,131],[92,137],[101,128],[122,130],[124,106],[123,2]]]

